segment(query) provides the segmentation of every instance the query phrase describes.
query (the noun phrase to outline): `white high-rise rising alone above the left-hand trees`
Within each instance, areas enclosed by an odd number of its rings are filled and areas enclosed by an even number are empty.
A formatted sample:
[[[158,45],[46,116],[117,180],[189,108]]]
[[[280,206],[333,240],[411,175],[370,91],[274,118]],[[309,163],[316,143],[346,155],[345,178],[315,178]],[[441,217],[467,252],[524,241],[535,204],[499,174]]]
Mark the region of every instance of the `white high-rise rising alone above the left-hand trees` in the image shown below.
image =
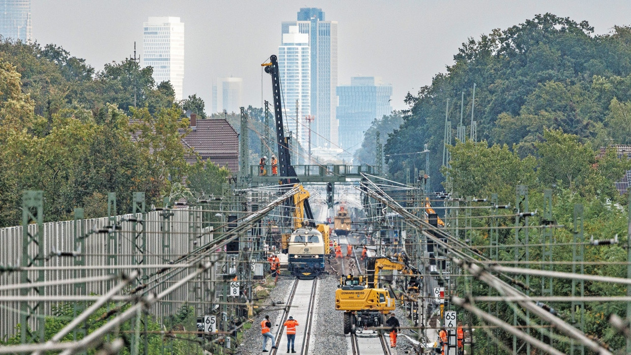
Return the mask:
[[[184,22],[179,17],[150,17],[143,24],[143,67],[153,67],[156,84],[170,81],[175,100],[184,86]]]

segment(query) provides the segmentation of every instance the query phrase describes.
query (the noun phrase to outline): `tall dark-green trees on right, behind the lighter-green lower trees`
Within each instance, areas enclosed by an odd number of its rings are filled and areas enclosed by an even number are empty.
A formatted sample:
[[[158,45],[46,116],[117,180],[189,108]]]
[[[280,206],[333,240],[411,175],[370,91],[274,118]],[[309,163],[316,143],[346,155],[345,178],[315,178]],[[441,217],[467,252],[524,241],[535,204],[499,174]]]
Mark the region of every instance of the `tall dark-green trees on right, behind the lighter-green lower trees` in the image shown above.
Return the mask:
[[[408,94],[404,123],[391,134],[385,153],[393,177],[422,156],[394,155],[420,151],[428,144],[433,189],[442,189],[445,106],[452,136],[464,92],[464,124],[470,125],[473,84],[478,140],[508,144],[522,158],[536,154],[546,128],[575,134],[592,148],[631,142],[631,28],[615,26],[594,35],[586,21],[537,15],[506,30],[469,38],[446,73]]]

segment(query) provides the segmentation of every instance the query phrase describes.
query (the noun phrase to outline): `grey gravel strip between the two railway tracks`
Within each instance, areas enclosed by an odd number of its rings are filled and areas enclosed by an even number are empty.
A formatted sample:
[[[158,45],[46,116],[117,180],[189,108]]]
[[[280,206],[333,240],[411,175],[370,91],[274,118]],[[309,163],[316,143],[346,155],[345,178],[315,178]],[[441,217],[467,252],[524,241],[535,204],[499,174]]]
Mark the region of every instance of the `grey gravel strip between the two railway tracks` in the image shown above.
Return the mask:
[[[335,310],[335,290],[338,277],[324,275],[318,282],[317,319],[310,351],[313,354],[346,355],[347,340],[342,329],[342,312]]]

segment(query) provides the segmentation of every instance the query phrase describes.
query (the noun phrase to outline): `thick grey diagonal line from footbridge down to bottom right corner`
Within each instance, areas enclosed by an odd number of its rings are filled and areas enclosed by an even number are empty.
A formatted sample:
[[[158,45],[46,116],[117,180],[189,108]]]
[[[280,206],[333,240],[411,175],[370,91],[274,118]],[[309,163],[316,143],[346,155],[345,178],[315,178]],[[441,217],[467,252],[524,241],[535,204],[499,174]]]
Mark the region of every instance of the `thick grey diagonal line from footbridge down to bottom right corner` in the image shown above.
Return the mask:
[[[362,175],[366,176],[367,174],[362,174]],[[367,180],[367,181],[370,182],[370,180]],[[370,182],[370,183],[372,183],[372,182]],[[374,183],[372,183],[372,185],[375,186]],[[406,211],[406,209],[404,209],[404,207],[399,205],[398,202],[396,202],[396,201],[394,201],[392,199],[386,199],[383,195],[377,194],[374,191],[369,190],[368,186],[365,185],[364,183],[362,183],[362,186],[366,188],[365,191],[362,191],[362,192],[364,192],[365,194],[369,194],[370,197],[376,199],[377,201],[382,202],[383,204],[386,204],[386,206],[390,207],[393,211],[398,212],[399,214],[401,214],[401,216],[405,216],[408,223],[415,225],[417,228],[420,228],[421,230],[423,230],[423,228],[427,228],[427,227],[433,228],[433,226],[431,226],[431,224],[426,223],[422,219],[419,219],[417,216],[415,216],[415,215],[411,214],[410,212]],[[376,186],[375,186],[375,188],[379,189],[379,187],[376,187]],[[387,195],[387,194],[384,194],[384,195]],[[469,272],[471,272],[471,274],[476,276],[481,281],[487,283],[489,286],[492,286],[493,288],[498,289],[498,291],[500,291],[500,292],[509,293],[511,296],[523,296],[525,298],[528,297],[528,296],[526,296],[526,294],[522,293],[521,291],[518,291],[517,289],[513,288],[512,286],[510,286],[506,282],[500,280],[497,276],[494,276],[494,275],[489,274],[488,272],[484,271],[480,266],[475,264],[479,260],[473,259],[473,257],[471,257],[469,255],[466,255],[463,252],[459,252],[459,250],[454,249],[450,245],[447,245],[447,243],[445,243],[442,240],[440,240],[440,238],[438,238],[437,236],[431,235],[430,233],[423,233],[423,234],[426,235],[428,238],[432,239],[433,242],[437,243],[437,245],[440,245],[440,246],[444,247],[445,249],[450,250],[452,253],[454,253],[456,255],[463,255],[463,260],[459,260],[456,257],[449,256],[449,255],[447,255],[447,257],[449,259],[451,259],[453,262],[456,262],[456,264],[459,264],[459,265],[469,269]],[[450,240],[450,239],[451,240],[456,240],[456,238],[452,237],[451,235],[449,235],[445,231],[440,231],[439,234],[444,235],[445,238],[447,238],[447,240]],[[461,242],[459,244],[461,244]],[[486,259],[485,257],[483,257],[483,255],[480,255],[480,254],[477,254],[477,255],[479,255],[483,259]],[[470,264],[464,262],[464,259],[466,259]],[[521,305],[522,307],[524,307],[524,308],[528,308],[528,310],[530,310],[534,314],[538,315],[543,320],[546,320],[547,322],[555,324],[559,330],[564,332],[566,335],[569,335],[570,337],[578,340],[579,342],[581,342],[585,346],[589,347],[589,349],[591,349],[592,351],[594,351],[594,352],[596,352],[598,354],[611,355],[611,352],[608,349],[605,349],[600,344],[598,344],[598,342],[596,342],[593,339],[587,337],[586,334],[584,334],[580,330],[572,327],[572,325],[569,325],[568,323],[564,322],[562,319],[560,319],[558,317],[555,317],[554,315],[552,315],[548,311],[543,310],[543,308],[541,308],[540,306],[535,305],[532,301],[518,301],[517,303],[519,305]]]

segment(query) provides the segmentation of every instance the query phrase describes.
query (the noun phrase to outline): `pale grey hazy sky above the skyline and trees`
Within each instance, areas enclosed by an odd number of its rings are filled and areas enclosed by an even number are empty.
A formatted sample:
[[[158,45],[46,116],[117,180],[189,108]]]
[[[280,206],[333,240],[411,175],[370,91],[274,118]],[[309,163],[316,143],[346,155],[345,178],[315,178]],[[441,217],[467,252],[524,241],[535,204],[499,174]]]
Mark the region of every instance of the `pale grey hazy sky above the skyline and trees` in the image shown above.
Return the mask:
[[[468,37],[505,29],[551,12],[587,20],[596,33],[631,23],[631,1],[146,1],[32,0],[33,37],[85,58],[96,69],[142,54],[143,21],[179,16],[186,30],[184,96],[212,103],[217,77],[244,78],[244,105],[261,106],[261,62],[278,52],[281,21],[301,7],[322,8],[338,21],[338,84],[380,76],[393,88],[392,106],[445,71]],[[268,74],[263,93],[271,100]]]

